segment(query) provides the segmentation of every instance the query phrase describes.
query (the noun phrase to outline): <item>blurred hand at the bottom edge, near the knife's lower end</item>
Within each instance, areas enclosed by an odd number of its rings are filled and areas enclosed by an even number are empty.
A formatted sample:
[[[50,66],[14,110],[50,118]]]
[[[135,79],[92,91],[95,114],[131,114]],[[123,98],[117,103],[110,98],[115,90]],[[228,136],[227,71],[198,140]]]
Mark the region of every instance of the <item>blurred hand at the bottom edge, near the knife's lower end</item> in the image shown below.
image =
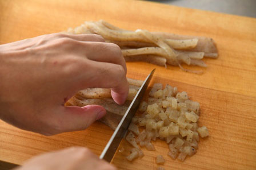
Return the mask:
[[[71,147],[65,150],[35,156],[15,170],[116,170],[87,148]]]

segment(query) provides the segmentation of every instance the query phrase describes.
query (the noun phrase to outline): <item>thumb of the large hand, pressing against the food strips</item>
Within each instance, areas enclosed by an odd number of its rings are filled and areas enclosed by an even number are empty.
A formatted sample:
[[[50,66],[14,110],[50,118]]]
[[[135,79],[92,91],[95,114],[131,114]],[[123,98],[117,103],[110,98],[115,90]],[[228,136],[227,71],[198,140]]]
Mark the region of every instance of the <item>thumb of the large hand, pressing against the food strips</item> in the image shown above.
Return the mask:
[[[106,114],[104,107],[99,105],[65,106],[62,109],[58,114],[62,132],[84,130]]]

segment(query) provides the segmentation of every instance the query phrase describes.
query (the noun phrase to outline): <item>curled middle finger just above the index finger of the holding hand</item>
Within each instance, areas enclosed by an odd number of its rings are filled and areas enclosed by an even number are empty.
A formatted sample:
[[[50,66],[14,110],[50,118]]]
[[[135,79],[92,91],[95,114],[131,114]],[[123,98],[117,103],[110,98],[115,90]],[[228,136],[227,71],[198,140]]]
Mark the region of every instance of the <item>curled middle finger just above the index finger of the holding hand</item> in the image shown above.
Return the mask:
[[[113,63],[122,65],[125,73],[127,72],[125,58],[117,44],[100,43],[100,42],[84,42],[85,53],[87,59],[100,61],[105,63]]]

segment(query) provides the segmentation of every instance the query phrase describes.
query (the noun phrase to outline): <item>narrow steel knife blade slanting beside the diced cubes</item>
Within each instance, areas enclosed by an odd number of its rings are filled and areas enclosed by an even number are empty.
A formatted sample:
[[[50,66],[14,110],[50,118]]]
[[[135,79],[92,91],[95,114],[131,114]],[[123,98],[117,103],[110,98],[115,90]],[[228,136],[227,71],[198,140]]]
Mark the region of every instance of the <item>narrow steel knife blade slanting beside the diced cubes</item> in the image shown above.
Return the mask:
[[[99,159],[105,159],[109,163],[112,160],[113,156],[115,155],[115,151],[117,151],[117,148],[131,123],[131,119],[133,118],[134,114],[136,113],[139,107],[139,103],[141,102],[141,99],[147,89],[147,86],[149,85],[149,82],[154,72],[155,69],[153,69],[153,71],[150,72],[149,76],[147,76],[146,80],[143,82],[141,88],[139,88],[138,93],[136,94],[130,106],[128,107],[125,115],[123,115],[123,118],[121,119],[113,135],[109,139],[109,142],[107,143],[106,147],[102,151],[101,156],[99,156]]]

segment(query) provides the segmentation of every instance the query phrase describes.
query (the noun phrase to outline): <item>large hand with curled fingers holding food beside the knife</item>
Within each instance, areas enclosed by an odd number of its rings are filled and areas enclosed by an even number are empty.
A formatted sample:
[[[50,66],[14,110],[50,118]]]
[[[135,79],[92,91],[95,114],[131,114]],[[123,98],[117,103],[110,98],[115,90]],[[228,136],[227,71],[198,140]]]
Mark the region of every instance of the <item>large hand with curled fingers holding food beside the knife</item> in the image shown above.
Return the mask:
[[[121,49],[99,35],[50,34],[0,45],[0,118],[44,135],[77,131],[102,118],[102,106],[64,103],[85,88],[111,88],[125,102]]]

